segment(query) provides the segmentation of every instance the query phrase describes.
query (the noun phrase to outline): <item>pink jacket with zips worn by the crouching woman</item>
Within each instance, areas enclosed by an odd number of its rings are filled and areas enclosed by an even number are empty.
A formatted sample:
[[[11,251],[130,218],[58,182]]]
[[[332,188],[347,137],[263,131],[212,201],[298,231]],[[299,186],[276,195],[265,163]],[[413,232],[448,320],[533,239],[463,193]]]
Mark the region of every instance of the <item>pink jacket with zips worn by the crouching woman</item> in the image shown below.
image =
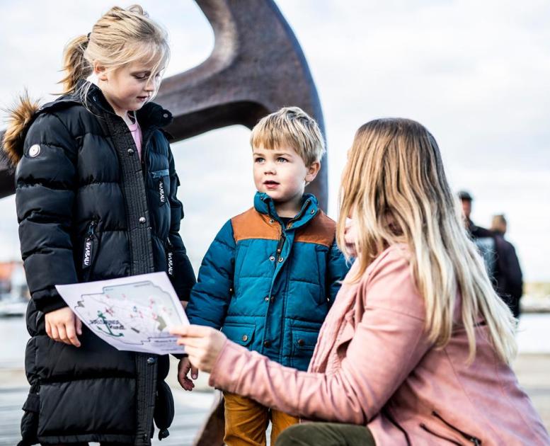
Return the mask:
[[[483,321],[468,366],[465,331],[436,349],[424,319],[408,250],[391,246],[359,282],[341,287],[308,372],[228,341],[210,384],[302,418],[367,425],[377,445],[550,445]]]

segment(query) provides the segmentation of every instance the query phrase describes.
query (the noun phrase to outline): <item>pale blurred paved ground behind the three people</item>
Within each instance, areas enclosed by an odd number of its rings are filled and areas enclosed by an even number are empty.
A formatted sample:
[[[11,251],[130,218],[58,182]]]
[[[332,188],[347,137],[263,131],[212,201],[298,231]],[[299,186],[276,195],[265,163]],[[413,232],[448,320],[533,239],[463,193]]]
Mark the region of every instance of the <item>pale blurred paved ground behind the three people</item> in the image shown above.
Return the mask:
[[[175,370],[176,367],[173,367]],[[531,397],[550,430],[550,354],[523,354],[514,363],[520,384]],[[176,419],[170,428],[171,435],[156,446],[186,446],[200,429],[212,404],[213,393],[207,387],[207,376],[201,376],[193,392],[183,391],[171,374],[171,387],[176,403]],[[0,446],[13,446],[19,440],[21,406],[28,392],[28,384],[21,369],[0,366]]]

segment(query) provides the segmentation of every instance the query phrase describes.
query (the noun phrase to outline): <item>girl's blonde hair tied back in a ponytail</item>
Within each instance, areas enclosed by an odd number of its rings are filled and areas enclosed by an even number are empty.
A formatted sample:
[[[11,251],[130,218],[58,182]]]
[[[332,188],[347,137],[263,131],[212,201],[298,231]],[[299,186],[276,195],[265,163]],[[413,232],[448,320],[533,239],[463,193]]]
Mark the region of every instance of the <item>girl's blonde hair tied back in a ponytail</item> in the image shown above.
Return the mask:
[[[151,64],[153,77],[166,67],[169,58],[166,30],[152,21],[141,6],[114,6],[93,25],[91,33],[79,35],[67,44],[63,55],[66,76],[59,84],[63,84],[64,94],[76,92],[78,81],[92,74],[94,62],[108,70],[132,62]]]

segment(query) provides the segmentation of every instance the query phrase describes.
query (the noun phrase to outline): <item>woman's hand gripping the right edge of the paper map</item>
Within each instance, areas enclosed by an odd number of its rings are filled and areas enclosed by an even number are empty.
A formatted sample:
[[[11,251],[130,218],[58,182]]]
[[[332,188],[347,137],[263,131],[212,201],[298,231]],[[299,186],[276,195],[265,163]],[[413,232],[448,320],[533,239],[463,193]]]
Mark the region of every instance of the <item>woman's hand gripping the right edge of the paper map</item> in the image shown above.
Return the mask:
[[[170,333],[181,336],[178,344],[185,345],[185,353],[188,353],[191,364],[202,372],[209,373],[227,340],[221,331],[201,325],[172,328]]]

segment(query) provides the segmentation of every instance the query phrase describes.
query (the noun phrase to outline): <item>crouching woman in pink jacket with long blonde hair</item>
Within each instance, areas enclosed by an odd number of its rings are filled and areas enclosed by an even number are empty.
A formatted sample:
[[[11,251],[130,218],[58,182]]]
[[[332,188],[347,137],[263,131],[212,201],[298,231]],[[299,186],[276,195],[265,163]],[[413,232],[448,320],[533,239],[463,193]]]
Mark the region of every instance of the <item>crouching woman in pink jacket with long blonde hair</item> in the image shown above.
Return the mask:
[[[280,445],[550,445],[510,369],[514,319],[462,227],[435,139],[381,119],[355,135],[338,244],[356,258],[308,372],[178,328],[210,384],[323,423]],[[350,217],[350,224],[346,221]]]

